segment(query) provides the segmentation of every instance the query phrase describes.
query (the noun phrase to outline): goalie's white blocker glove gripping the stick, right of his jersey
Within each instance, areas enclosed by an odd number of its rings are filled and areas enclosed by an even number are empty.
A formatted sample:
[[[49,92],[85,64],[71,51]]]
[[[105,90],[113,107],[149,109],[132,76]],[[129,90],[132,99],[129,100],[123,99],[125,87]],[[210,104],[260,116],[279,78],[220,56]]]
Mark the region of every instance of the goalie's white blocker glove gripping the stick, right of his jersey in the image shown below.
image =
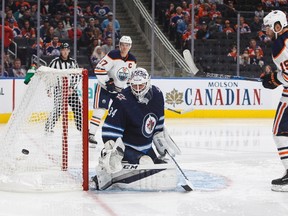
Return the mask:
[[[166,151],[168,151],[169,154],[173,157],[175,157],[175,155],[181,154],[181,150],[169,136],[165,127],[163,131],[158,132],[153,136],[153,143],[161,156],[165,156]]]

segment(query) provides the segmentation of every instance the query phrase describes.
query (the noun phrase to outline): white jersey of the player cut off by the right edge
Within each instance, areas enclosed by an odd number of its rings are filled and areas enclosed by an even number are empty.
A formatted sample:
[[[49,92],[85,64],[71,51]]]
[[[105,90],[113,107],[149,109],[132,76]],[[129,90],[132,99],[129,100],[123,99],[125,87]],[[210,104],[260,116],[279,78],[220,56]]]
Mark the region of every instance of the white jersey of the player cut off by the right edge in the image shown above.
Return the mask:
[[[272,44],[273,62],[279,70],[277,78],[283,83],[281,101],[288,102],[288,32],[278,36]]]

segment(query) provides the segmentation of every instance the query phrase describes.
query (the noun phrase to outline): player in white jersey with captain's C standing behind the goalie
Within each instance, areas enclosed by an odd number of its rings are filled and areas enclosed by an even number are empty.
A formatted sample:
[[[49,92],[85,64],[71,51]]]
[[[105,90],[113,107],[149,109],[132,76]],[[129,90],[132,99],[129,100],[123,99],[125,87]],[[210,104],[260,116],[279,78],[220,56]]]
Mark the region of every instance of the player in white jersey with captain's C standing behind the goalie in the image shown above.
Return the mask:
[[[101,120],[108,109],[110,99],[126,87],[132,70],[136,68],[136,58],[129,52],[132,40],[129,36],[122,36],[119,50],[112,50],[97,64],[94,72],[98,79],[95,89],[94,111],[89,125],[89,142],[97,144],[94,136]]]

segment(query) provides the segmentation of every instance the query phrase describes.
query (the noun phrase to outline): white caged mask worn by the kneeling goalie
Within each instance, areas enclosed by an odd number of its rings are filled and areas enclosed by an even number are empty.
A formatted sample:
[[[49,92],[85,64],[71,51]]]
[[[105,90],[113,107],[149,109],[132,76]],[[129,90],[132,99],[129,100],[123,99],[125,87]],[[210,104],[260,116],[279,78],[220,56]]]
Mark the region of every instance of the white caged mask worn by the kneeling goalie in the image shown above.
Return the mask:
[[[130,78],[130,88],[132,93],[140,103],[148,103],[152,98],[150,75],[144,68],[136,68]]]

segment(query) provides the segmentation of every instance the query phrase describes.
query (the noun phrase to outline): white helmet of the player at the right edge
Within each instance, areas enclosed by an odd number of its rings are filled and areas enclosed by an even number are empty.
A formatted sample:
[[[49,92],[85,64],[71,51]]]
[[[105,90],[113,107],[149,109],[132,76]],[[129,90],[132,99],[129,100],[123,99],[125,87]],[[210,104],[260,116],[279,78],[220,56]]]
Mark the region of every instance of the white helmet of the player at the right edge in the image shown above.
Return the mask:
[[[274,29],[275,24],[277,22],[279,22],[281,25],[281,30],[278,32],[276,32]],[[286,14],[280,10],[272,11],[264,17],[263,24],[266,27],[267,26],[270,27],[272,29],[272,31],[277,34],[277,33],[281,32],[284,27],[287,26]]]

